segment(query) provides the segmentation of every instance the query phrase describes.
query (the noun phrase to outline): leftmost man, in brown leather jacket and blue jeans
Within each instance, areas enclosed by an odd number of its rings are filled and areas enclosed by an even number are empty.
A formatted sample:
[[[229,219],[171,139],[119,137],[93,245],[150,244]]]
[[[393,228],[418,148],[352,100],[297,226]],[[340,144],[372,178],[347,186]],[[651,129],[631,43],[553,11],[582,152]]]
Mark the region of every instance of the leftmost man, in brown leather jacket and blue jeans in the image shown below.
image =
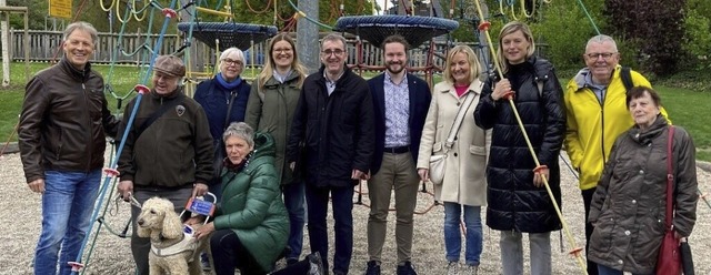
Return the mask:
[[[70,274],[91,230],[99,194],[106,135],[119,121],[103,95],[103,79],[89,60],[97,30],[87,22],[67,27],[64,55],[27,83],[18,144],[28,187],[42,194],[42,232],[34,274]]]

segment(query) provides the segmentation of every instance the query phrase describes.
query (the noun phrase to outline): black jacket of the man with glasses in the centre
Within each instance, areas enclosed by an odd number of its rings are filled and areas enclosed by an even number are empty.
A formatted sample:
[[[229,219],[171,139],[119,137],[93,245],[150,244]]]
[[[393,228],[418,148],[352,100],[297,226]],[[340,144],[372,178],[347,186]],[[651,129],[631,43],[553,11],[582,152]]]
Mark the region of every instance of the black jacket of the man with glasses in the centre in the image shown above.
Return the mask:
[[[373,101],[368,82],[350,69],[329,95],[326,67],[309,75],[291,124],[287,163],[299,160],[304,144],[306,182],[317,187],[347,187],[354,169],[370,170],[375,147]]]

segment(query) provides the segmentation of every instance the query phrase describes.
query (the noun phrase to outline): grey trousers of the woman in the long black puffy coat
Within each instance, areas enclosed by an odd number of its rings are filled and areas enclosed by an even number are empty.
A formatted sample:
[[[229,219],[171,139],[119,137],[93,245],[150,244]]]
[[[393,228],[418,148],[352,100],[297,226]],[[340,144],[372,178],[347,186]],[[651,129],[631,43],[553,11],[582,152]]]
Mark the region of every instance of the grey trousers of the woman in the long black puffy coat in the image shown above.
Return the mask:
[[[523,244],[521,232],[501,231],[501,264],[503,275],[523,274]],[[529,233],[531,275],[550,275],[551,233]]]

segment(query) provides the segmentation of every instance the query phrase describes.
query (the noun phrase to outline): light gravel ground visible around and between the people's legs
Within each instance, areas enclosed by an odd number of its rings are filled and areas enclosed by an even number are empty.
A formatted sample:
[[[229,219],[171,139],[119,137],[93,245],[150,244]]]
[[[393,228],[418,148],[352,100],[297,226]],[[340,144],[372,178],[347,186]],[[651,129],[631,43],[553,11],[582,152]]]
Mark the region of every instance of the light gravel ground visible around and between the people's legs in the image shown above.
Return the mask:
[[[561,163],[564,166],[564,163]],[[701,165],[700,165],[701,166]],[[708,166],[708,165],[707,165]],[[699,187],[704,192],[711,191],[711,174],[699,169]],[[0,155],[0,212],[3,222],[0,236],[0,251],[4,252],[0,257],[0,274],[32,274],[30,266],[34,245],[40,230],[40,196],[32,193],[24,183],[22,165],[19,154]],[[563,205],[562,212],[568,224],[568,232],[578,246],[584,242],[583,206],[573,175],[564,170],[562,174]],[[359,187],[357,187],[357,191]],[[431,186],[428,186],[431,191]],[[368,204],[365,186],[362,186],[363,204]],[[127,203],[113,203],[114,192],[108,192],[104,202],[111,202],[109,210],[103,213],[106,225],[121,231],[130,216]],[[109,197],[111,195],[111,197]],[[711,198],[711,197],[710,197]],[[353,197],[358,201],[358,193]],[[414,217],[414,244],[413,258],[420,274],[443,274],[447,262],[444,259],[444,244],[442,234],[443,207],[433,205],[433,198],[427,193],[418,197],[418,212]],[[711,207],[705,203],[699,203],[698,221],[690,240],[693,249],[697,274],[711,274]],[[101,216],[101,214],[100,214]],[[485,211],[482,210],[482,218]],[[354,220],[354,249],[351,261],[351,274],[362,274],[368,261],[365,224],[368,221],[368,207],[365,205],[353,206]],[[12,222],[13,221],[13,222]],[[332,221],[329,222],[332,225]],[[86,261],[86,274],[133,274],[133,264],[130,252],[130,241],[110,234],[107,227],[102,227],[98,241],[93,246],[91,258]],[[389,235],[383,247],[383,274],[394,274],[395,245],[394,245],[394,214],[389,215]],[[96,231],[96,226],[94,226]],[[484,249],[481,255],[480,274],[500,274],[500,254],[498,247],[499,234],[484,225]],[[571,245],[563,233],[551,234],[553,247],[553,274],[581,274],[581,269],[574,257],[569,256]],[[524,240],[524,243],[525,240]],[[561,246],[562,251],[561,252]],[[91,246],[87,246],[87,252]],[[308,240],[304,237],[304,251],[308,251]],[[528,247],[524,247],[528,255]],[[462,252],[463,255],[463,252]],[[332,257],[332,255],[330,255]],[[528,258],[528,256],[525,256]],[[462,259],[463,261],[463,259]],[[280,263],[282,264],[282,263]],[[528,273],[529,264],[524,264]]]

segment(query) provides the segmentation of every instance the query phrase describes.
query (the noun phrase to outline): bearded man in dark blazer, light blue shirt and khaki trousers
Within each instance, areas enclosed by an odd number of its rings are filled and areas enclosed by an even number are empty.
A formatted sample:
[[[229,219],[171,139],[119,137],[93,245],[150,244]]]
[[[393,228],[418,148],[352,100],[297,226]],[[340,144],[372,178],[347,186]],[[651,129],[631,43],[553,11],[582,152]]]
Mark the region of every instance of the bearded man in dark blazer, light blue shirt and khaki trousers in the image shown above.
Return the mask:
[[[417,203],[419,177],[415,163],[422,126],[432,95],[422,79],[407,73],[409,43],[401,35],[390,35],[381,44],[387,71],[368,81],[375,115],[375,149],[368,181],[368,269],[380,274],[385,241],[391,190],[395,190],[397,274],[417,274],[412,268],[412,215]]]

